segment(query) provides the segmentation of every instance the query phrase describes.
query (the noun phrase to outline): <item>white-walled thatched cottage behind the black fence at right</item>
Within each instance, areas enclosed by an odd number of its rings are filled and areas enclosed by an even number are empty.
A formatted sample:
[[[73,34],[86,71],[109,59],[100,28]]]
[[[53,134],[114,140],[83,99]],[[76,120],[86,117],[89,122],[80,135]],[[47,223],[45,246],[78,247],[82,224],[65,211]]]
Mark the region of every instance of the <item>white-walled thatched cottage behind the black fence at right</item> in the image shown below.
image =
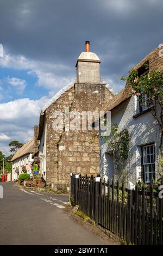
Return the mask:
[[[143,63],[148,62],[149,71],[163,70],[163,57],[159,56],[159,51],[160,48],[156,48],[135,68],[141,71]],[[146,107],[141,107],[138,97],[131,96],[130,92],[131,87],[126,86],[108,101],[104,111],[111,111],[111,123],[117,124],[120,131],[127,129],[129,132],[129,156],[123,166],[123,170],[128,173],[128,181],[135,184],[143,180],[148,183],[151,178],[158,179],[162,175],[159,161],[162,156],[159,147],[161,132],[149,112],[150,105],[147,103]],[[100,142],[100,173],[104,178],[111,178],[115,168],[114,156],[108,143],[104,139]]]

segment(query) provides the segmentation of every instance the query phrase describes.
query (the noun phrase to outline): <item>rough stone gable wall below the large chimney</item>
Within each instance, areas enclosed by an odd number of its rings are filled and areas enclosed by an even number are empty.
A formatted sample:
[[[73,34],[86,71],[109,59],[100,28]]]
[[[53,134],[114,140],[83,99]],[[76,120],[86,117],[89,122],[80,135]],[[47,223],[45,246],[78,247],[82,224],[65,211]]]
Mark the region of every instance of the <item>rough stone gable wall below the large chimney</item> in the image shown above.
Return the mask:
[[[47,182],[62,188],[68,186],[70,173],[97,175],[99,173],[99,142],[97,131],[54,131],[54,111],[100,110],[113,95],[104,84],[74,84],[46,109],[47,123]]]

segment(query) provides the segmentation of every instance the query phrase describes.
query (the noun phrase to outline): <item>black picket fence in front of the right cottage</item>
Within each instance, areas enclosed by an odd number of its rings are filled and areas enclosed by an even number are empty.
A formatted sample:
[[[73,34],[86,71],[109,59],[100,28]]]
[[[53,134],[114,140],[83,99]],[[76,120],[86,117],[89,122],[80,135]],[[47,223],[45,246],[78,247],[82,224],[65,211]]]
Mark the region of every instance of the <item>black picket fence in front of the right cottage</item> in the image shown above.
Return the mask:
[[[161,180],[163,185],[163,178]],[[148,191],[147,191],[148,190]],[[162,245],[163,199],[154,192],[153,180],[128,190],[108,179],[71,175],[71,203],[97,225],[134,245]],[[163,194],[163,193],[162,193]]]

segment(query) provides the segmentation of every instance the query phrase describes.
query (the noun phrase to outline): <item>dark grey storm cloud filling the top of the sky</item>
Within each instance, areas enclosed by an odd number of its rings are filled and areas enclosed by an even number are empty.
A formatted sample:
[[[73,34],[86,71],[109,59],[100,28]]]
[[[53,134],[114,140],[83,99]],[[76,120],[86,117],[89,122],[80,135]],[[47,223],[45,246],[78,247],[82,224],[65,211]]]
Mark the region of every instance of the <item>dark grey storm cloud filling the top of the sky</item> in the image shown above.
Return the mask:
[[[163,42],[162,10],[162,0],[1,0],[1,43],[15,55],[74,67],[90,40],[102,76],[118,82]]]

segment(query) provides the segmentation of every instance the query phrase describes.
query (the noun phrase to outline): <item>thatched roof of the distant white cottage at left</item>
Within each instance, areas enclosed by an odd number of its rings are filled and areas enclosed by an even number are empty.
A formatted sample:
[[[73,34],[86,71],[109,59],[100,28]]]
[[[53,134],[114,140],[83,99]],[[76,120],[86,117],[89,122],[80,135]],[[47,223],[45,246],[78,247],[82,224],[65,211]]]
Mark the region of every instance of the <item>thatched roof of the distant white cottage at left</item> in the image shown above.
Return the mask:
[[[34,140],[31,139],[29,142],[24,144],[23,147],[21,147],[20,150],[18,150],[14,156],[12,156],[11,161],[15,161],[21,156],[33,153],[33,149],[34,149]]]

